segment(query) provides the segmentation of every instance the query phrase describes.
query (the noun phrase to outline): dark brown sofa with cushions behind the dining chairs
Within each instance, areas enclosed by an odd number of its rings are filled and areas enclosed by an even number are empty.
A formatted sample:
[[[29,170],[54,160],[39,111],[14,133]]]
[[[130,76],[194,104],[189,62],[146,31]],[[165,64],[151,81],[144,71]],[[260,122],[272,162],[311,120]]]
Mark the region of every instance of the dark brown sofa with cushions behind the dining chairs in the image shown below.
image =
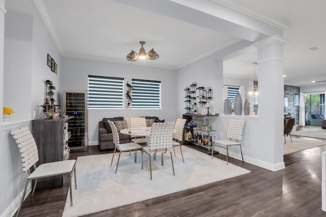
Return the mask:
[[[154,122],[164,122],[165,120],[160,120],[158,117],[150,117],[146,116],[146,119],[154,119]],[[122,122],[126,120],[125,117],[112,117],[112,118],[106,118],[104,117],[102,120],[98,122],[98,143],[100,150],[104,149],[114,149],[115,144],[113,143],[113,136],[112,136],[112,130],[110,125],[108,124],[107,120],[116,121],[116,122]],[[129,127],[129,126],[127,126]],[[127,143],[131,141],[131,138],[129,135],[118,133],[120,144]]]

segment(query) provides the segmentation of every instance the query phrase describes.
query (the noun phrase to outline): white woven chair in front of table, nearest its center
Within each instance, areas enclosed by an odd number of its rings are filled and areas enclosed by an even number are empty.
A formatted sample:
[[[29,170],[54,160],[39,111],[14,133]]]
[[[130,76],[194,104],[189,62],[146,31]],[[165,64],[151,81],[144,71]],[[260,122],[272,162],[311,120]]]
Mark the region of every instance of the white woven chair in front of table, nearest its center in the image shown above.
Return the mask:
[[[173,158],[172,158],[172,134],[174,122],[153,123],[148,146],[142,147],[142,169],[144,168],[143,151],[149,154],[149,168],[152,180],[152,163],[151,154],[161,153],[161,165],[164,166],[164,153],[170,152],[172,171],[174,173]]]

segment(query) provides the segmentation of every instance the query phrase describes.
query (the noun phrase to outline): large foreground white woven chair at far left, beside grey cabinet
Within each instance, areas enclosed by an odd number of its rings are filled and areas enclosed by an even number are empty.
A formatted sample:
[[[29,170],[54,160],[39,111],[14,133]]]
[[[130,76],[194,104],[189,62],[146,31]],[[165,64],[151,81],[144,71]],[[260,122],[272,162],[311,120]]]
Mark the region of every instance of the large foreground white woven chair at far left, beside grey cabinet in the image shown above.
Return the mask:
[[[22,171],[28,172],[29,176],[27,177],[25,188],[23,191],[23,195],[21,198],[21,202],[17,211],[17,215],[19,216],[20,208],[23,203],[26,190],[28,187],[28,183],[30,180],[35,180],[35,184],[33,187],[32,198],[34,197],[37,180],[39,178],[65,175],[69,176],[69,188],[70,188],[70,206],[72,203],[72,190],[71,190],[71,176],[74,173],[75,177],[75,189],[77,189],[77,181],[76,181],[76,160],[67,160],[67,161],[58,161],[51,163],[44,163],[36,167],[36,163],[39,161],[39,154],[35,139],[27,127],[20,127],[10,131],[10,134],[14,138],[21,157]],[[34,171],[31,173],[30,168],[33,166]]]

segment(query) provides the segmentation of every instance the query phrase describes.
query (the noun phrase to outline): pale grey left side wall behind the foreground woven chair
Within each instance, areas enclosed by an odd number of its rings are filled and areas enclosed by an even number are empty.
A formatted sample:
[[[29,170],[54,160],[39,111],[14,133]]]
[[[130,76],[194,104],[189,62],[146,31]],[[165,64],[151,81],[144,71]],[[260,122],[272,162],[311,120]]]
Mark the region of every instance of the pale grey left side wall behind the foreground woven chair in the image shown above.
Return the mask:
[[[3,1],[2,1],[3,2]],[[32,111],[43,104],[44,81],[49,79],[59,85],[56,76],[46,65],[47,53],[59,63],[61,56],[53,42],[33,1],[24,1],[32,14],[7,12],[0,10],[0,23],[4,23],[5,38],[0,30],[0,82],[3,84],[0,105],[12,108],[15,113],[12,121],[3,122],[1,141],[2,175],[0,179],[0,213],[11,216],[18,208],[20,196],[25,184],[26,173],[22,173],[21,160],[17,145],[9,134],[11,129],[28,126]],[[5,20],[3,19],[5,17]],[[5,61],[3,61],[5,60]],[[2,68],[4,63],[4,71]],[[3,80],[4,79],[4,80]],[[1,107],[1,106],[0,106]]]

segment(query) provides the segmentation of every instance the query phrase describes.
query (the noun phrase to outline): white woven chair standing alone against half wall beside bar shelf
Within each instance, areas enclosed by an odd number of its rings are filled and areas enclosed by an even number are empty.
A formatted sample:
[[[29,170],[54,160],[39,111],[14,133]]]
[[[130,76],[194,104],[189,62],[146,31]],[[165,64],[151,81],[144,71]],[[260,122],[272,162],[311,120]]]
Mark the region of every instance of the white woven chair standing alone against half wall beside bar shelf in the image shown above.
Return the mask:
[[[228,139],[225,139],[225,140],[213,140],[213,142],[212,142],[212,145],[213,145],[213,147],[212,147],[212,158],[213,158],[214,146],[225,148],[226,149],[226,164],[228,165],[229,146],[238,145],[240,147],[241,157],[242,157],[242,162],[243,162],[241,143],[239,143],[238,141],[242,141],[243,128],[244,128],[244,122],[245,121],[246,120],[244,120],[244,119],[236,119],[236,118],[230,119],[229,124],[228,124],[227,133],[226,133],[226,137]]]

